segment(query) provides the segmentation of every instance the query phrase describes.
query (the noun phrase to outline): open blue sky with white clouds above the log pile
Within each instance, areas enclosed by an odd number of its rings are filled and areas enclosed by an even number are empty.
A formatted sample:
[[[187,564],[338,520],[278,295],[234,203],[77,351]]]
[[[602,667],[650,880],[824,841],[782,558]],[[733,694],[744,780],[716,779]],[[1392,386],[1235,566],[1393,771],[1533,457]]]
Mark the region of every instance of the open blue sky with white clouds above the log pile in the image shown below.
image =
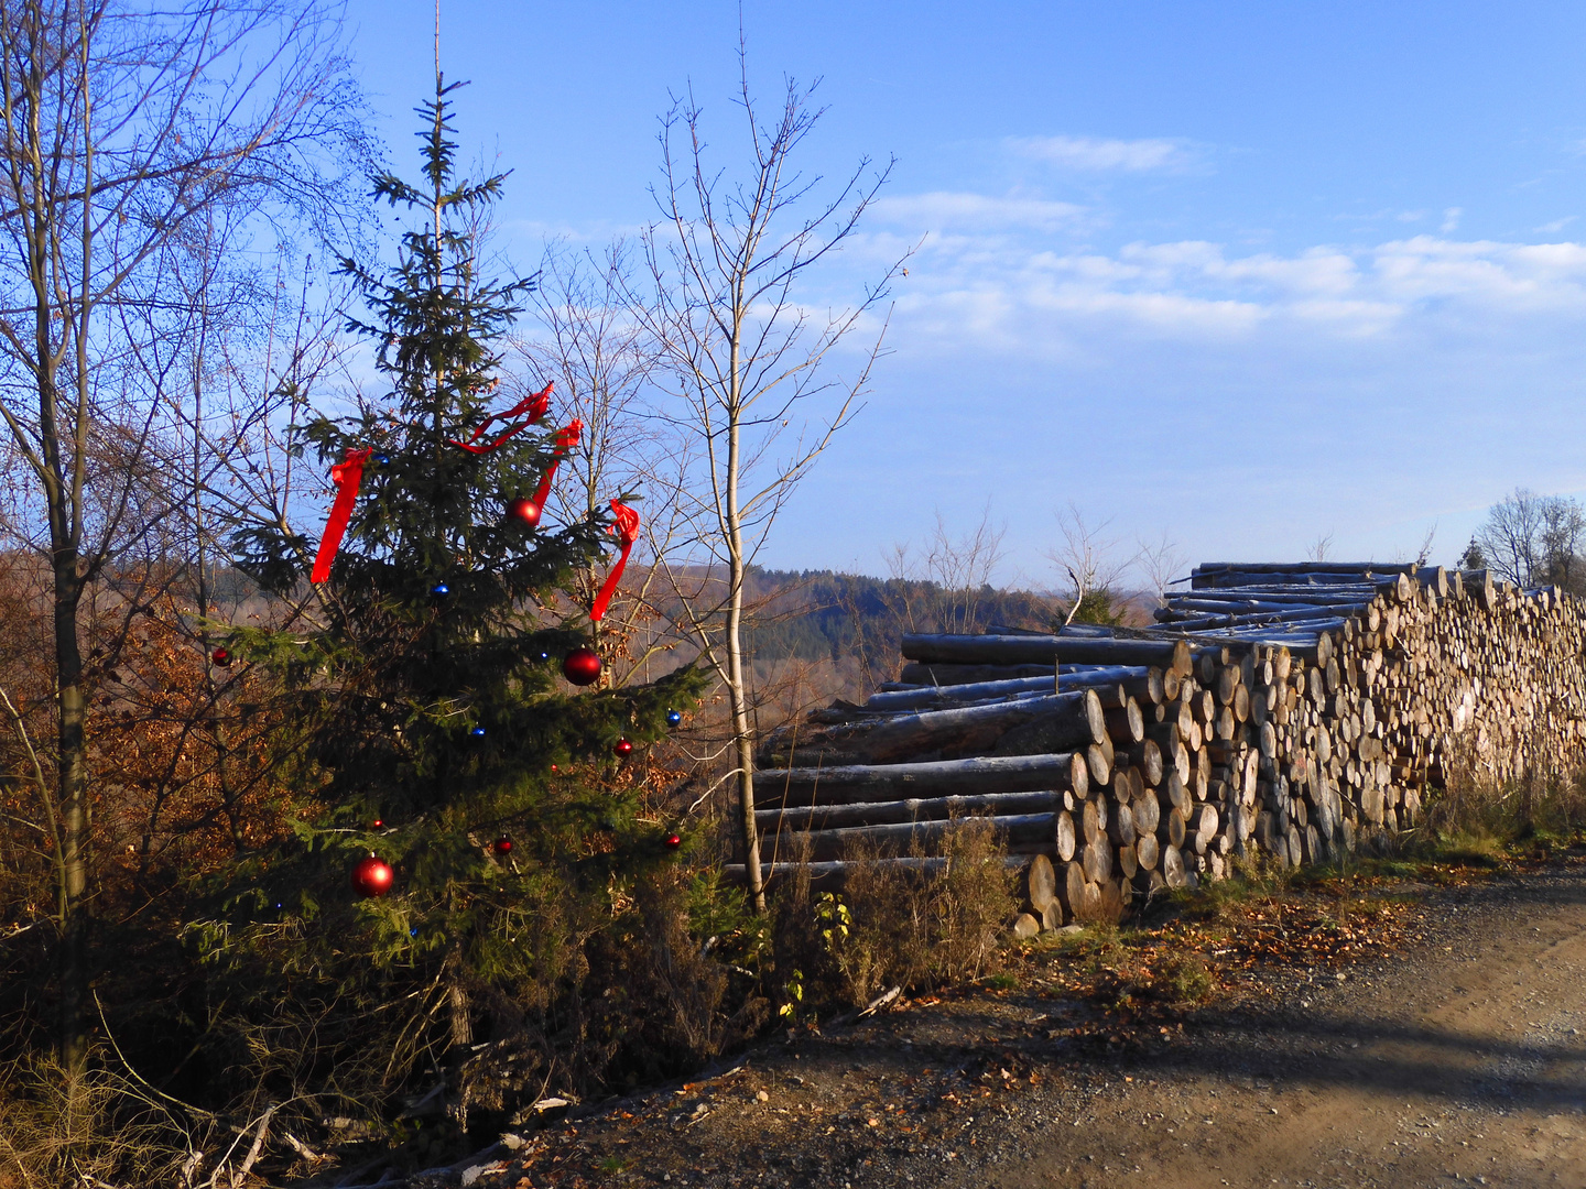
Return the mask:
[[[354,0],[408,170],[433,5]],[[898,159],[845,300],[923,241],[866,409],[764,556],[882,569],[937,509],[1007,522],[1004,577],[1074,503],[1193,560],[1458,556],[1515,485],[1586,490],[1586,5],[745,3],[750,71],[818,76],[804,166]],[[525,263],[652,216],[693,86],[731,168],[734,3],[458,3],[465,149],[514,170]],[[845,366],[837,360],[836,366]]]

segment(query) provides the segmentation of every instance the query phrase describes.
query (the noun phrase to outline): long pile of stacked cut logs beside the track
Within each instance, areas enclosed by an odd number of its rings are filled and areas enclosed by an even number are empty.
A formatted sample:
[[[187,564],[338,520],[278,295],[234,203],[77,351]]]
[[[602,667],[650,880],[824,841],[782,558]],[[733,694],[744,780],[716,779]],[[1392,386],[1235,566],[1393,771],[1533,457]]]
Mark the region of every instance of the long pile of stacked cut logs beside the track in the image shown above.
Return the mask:
[[[1031,918],[1117,919],[1239,856],[1413,828],[1458,764],[1586,761],[1586,609],[1484,571],[1207,564],[1151,629],[906,636],[899,682],[768,737],[766,875],[931,869],[983,816]],[[1026,919],[1026,927],[1034,927]]]

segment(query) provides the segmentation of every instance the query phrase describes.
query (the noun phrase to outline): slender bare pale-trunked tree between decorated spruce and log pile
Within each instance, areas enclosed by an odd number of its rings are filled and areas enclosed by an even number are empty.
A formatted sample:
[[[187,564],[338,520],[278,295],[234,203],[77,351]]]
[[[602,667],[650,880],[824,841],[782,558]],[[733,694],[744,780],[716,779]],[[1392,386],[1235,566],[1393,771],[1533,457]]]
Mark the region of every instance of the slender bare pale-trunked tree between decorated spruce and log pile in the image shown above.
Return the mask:
[[[661,220],[644,235],[655,296],[634,303],[657,342],[674,398],[669,425],[696,461],[679,491],[703,555],[725,572],[723,598],[690,606],[691,628],[731,702],[733,775],[749,891],[764,908],[755,831],[753,723],[744,664],[744,575],[799,479],[855,412],[880,350],[874,346],[836,379],[828,365],[864,317],[885,301],[898,265],[853,304],[825,315],[796,298],[799,282],[847,241],[890,166],[868,160],[817,195],[796,157],[820,111],[810,90],[787,82],[776,116],[763,122],[741,49],[737,106],[749,133],[750,168],[730,182],[711,163],[703,111],[679,100],[661,122]],[[820,401],[823,414],[807,417]],[[783,434],[783,430],[790,430]]]

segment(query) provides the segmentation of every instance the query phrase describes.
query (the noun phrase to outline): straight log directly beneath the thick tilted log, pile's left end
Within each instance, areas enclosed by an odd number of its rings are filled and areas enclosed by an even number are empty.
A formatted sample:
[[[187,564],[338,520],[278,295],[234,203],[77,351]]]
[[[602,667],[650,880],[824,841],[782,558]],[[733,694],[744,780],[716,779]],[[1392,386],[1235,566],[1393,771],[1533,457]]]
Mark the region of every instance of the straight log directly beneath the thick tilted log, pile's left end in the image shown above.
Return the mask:
[[[1072,789],[1075,796],[1085,796],[1090,791],[1085,756],[1058,753],[918,764],[795,767],[760,772],[755,782],[757,801],[766,809],[1044,789]]]

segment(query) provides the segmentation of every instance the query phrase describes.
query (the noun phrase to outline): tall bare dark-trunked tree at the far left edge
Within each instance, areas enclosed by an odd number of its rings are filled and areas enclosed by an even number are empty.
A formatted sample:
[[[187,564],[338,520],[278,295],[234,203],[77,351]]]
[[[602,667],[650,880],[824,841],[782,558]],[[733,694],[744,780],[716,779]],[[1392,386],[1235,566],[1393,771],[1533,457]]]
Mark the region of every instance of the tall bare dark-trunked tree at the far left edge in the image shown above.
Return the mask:
[[[56,756],[40,796],[59,837],[59,1046],[73,1075],[92,862],[79,610],[117,549],[181,499],[151,498],[147,453],[173,426],[159,392],[124,385],[135,322],[111,314],[170,300],[162,257],[222,195],[260,222],[282,201],[324,216],[328,170],[355,168],[362,143],[339,46],[317,0],[0,0],[0,415],[51,571]]]

